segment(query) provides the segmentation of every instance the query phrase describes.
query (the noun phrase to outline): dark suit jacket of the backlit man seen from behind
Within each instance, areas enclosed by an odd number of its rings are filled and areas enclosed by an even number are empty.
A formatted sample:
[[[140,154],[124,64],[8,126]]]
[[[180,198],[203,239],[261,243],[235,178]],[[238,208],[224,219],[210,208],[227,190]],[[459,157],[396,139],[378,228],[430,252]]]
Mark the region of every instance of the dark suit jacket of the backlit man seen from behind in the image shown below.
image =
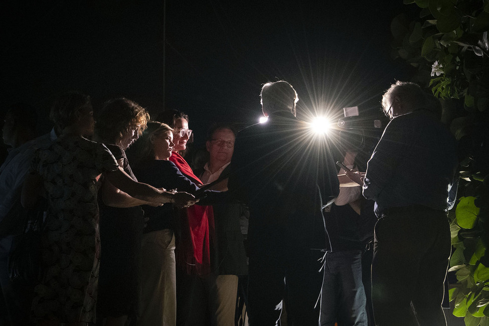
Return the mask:
[[[324,136],[290,112],[241,130],[228,188],[250,208],[249,249],[331,249],[322,207],[338,196],[335,162]]]

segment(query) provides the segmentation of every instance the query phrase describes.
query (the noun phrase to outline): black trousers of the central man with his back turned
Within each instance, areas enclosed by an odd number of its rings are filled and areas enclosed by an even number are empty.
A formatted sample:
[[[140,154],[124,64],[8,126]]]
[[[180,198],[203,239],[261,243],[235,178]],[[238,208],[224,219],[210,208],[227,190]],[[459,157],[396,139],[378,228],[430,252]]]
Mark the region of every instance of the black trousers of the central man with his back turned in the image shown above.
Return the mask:
[[[265,248],[250,251],[250,326],[277,325],[283,299],[289,326],[318,325],[323,257],[324,253],[319,250],[291,246],[276,253]]]

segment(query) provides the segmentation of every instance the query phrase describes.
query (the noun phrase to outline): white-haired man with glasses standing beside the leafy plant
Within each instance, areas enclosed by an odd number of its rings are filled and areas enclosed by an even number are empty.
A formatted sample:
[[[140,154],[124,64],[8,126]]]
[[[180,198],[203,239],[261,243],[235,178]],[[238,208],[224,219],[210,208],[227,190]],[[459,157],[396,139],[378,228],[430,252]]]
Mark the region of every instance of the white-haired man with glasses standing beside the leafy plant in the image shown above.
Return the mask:
[[[382,106],[392,120],[367,173],[349,174],[375,201],[379,219],[372,262],[375,322],[445,325],[441,302],[451,250],[446,210],[457,167],[455,139],[440,122],[439,105],[414,83],[391,85]]]

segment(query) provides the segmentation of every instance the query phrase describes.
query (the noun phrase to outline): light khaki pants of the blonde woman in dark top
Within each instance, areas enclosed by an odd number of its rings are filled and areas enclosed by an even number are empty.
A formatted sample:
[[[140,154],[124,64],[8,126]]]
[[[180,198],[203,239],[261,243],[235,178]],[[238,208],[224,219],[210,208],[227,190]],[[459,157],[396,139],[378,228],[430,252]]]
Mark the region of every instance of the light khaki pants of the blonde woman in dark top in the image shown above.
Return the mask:
[[[140,275],[141,293],[137,324],[175,326],[177,290],[175,235],[172,230],[143,234]]]

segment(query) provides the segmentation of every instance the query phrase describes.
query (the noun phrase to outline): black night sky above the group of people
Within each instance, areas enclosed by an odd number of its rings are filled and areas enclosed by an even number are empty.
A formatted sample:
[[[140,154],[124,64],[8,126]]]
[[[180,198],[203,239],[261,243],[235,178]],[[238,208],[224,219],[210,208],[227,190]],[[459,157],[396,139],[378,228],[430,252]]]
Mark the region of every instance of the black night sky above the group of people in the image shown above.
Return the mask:
[[[294,86],[299,118],[379,112],[383,91],[412,73],[391,59],[390,23],[418,12],[402,0],[17,0],[0,10],[2,111],[34,105],[43,132],[60,92],[89,94],[95,110],[124,96],[152,115],[188,113],[196,142],[212,121],[256,122],[267,81]]]

